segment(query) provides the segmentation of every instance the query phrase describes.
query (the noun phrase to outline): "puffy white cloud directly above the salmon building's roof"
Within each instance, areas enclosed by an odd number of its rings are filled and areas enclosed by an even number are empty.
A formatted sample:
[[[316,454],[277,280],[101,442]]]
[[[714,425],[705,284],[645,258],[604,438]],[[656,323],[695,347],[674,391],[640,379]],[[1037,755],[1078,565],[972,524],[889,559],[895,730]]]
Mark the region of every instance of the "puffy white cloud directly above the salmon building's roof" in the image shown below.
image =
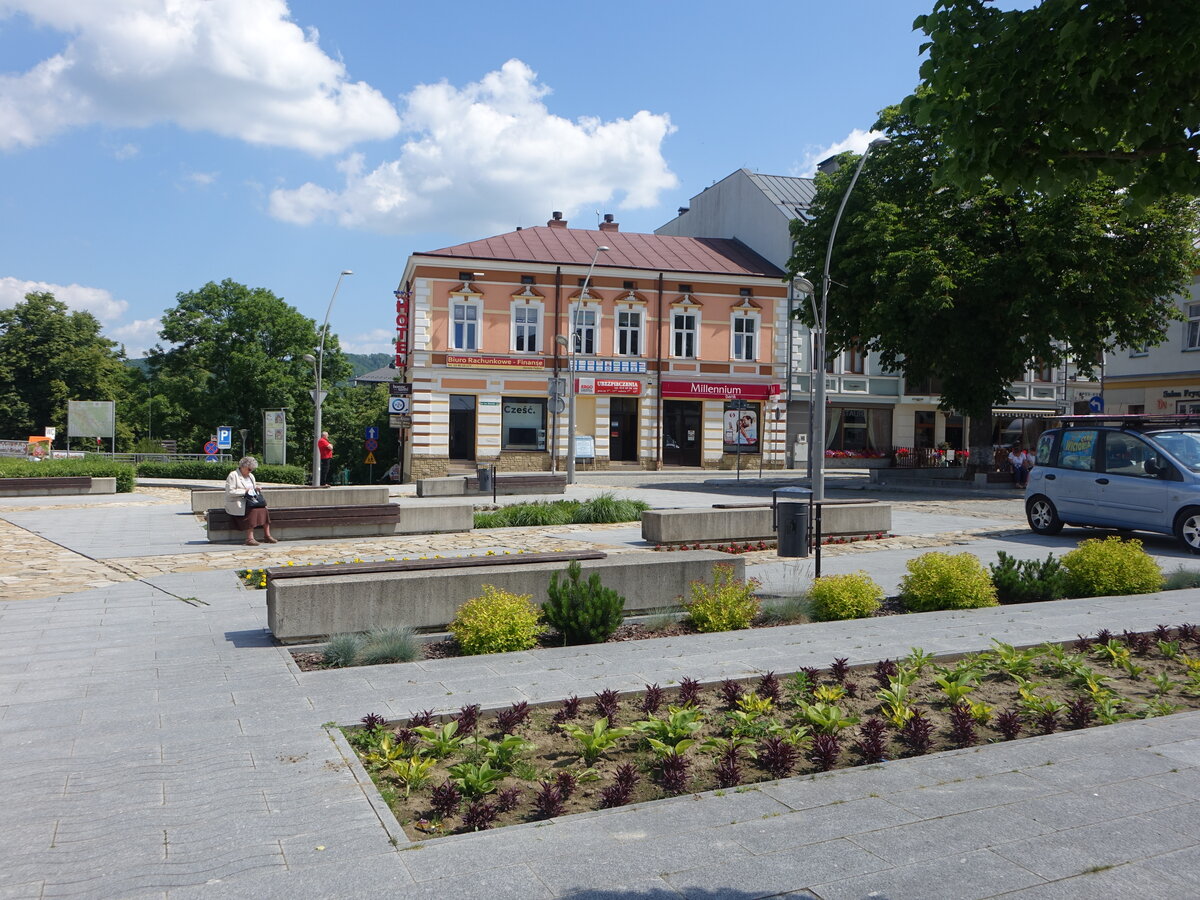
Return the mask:
[[[296,224],[479,234],[544,221],[551,210],[570,218],[598,205],[653,206],[678,185],[662,157],[670,116],[570,121],[546,108],[548,92],[516,59],[462,89],[419,85],[406,98],[402,128],[412,137],[397,158],[366,172],[353,154],[337,167],[341,188],[276,190],[271,214]]]

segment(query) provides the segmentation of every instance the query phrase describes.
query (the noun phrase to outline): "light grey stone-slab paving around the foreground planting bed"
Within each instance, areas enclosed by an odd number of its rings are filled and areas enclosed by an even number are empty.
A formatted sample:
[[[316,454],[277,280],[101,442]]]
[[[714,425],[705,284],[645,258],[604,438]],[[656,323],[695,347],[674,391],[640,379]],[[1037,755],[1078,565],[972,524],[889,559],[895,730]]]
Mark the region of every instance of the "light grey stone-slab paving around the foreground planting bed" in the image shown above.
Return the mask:
[[[125,554],[108,562],[149,570],[138,552],[166,539],[146,520],[179,512],[102,515],[106,552]],[[98,547],[88,518],[0,512],[64,554]],[[20,535],[40,540],[6,524],[0,551]],[[420,845],[380,820],[322,728],[1175,625],[1200,620],[1200,590],[310,673],[274,646],[263,598],[209,569],[0,601],[0,896],[1200,894],[1200,713]]]

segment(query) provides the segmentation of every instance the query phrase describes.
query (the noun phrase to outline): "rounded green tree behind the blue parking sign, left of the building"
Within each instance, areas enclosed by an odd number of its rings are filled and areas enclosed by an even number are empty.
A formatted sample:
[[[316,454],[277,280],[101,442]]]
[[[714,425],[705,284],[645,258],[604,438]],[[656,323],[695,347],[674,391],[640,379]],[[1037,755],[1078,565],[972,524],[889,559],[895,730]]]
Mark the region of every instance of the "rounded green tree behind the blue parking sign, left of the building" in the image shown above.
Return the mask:
[[[155,432],[196,452],[218,425],[247,428],[247,451],[262,446],[263,409],[288,410],[288,462],[312,457],[312,366],[317,324],[265,288],[229,278],[176,295],[162,318],[167,342],[149,353]],[[337,338],[325,338],[323,378],[335,384],[350,371]],[[328,402],[328,401],[326,401]],[[160,431],[161,430],[161,431]],[[240,438],[234,446],[240,451]]]

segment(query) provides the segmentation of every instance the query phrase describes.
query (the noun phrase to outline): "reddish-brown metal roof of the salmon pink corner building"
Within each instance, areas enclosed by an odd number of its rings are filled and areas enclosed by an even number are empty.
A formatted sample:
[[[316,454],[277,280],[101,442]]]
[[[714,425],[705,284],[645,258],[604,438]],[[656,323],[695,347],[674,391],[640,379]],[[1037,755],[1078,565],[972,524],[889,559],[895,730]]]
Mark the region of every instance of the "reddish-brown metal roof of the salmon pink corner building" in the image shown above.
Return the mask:
[[[592,232],[583,228],[538,226],[498,234],[452,247],[414,253],[414,257],[504,259],[522,263],[588,265],[596,247],[608,247],[596,258],[596,269],[714,275],[758,275],[782,278],[784,272],[742,241],[728,238],[679,238],[670,234]]]

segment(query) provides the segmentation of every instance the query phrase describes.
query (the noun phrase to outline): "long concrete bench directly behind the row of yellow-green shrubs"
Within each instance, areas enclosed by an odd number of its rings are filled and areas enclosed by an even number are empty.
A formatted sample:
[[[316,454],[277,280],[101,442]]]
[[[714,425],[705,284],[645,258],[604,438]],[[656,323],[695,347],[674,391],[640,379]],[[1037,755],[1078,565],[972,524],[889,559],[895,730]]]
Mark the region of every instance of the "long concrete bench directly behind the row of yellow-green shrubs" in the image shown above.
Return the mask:
[[[679,598],[688,595],[691,582],[712,582],[715,565],[732,566],[734,577],[745,577],[744,559],[709,550],[640,551],[604,558],[593,558],[590,553],[578,556],[587,557],[581,559],[583,577],[598,571],[605,587],[625,598],[626,614],[678,608]],[[311,575],[316,566],[292,566],[294,575],[268,576],[266,624],[283,643],[400,625],[444,629],[460,606],[484,593],[485,584],[530,594],[534,602],[542,602],[551,577],[556,572],[562,577],[570,559],[568,553],[522,553],[409,560],[426,565],[380,572],[354,572],[337,566],[337,574],[328,575]]]

